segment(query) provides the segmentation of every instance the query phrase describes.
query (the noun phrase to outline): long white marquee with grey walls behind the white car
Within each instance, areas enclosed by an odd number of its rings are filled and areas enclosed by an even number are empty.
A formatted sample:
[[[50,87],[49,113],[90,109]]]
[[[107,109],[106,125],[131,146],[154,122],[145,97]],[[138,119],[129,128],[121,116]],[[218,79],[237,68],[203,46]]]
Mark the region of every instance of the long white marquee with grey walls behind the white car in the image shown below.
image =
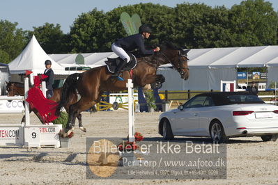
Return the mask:
[[[191,49],[187,55],[190,78],[164,65],[157,71],[166,79],[161,90],[220,90],[221,80],[237,80],[237,67],[268,67],[268,84],[278,81],[278,46]]]

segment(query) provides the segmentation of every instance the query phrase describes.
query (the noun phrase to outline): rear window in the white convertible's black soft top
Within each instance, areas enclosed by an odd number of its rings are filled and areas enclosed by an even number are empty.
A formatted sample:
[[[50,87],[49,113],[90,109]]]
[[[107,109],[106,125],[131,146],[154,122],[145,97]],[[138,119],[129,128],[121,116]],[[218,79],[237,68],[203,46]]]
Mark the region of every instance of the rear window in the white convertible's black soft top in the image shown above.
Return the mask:
[[[227,97],[231,103],[235,104],[263,103],[263,100],[261,100],[256,95],[229,95]]]

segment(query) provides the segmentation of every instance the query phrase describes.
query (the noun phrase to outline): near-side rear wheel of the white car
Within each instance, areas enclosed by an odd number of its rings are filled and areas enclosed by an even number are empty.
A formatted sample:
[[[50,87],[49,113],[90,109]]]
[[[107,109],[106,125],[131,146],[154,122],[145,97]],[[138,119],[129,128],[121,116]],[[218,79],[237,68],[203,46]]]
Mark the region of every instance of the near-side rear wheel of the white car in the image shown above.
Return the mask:
[[[225,135],[224,128],[219,121],[214,121],[210,124],[210,137],[213,142],[226,143],[228,138]]]

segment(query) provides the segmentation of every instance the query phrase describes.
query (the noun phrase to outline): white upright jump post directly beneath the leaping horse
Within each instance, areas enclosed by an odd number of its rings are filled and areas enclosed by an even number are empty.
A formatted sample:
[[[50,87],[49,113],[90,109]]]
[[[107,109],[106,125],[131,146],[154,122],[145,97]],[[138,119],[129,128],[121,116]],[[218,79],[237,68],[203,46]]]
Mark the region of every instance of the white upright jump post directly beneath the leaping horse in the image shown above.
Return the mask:
[[[132,79],[128,79],[128,141],[134,141],[134,90]]]

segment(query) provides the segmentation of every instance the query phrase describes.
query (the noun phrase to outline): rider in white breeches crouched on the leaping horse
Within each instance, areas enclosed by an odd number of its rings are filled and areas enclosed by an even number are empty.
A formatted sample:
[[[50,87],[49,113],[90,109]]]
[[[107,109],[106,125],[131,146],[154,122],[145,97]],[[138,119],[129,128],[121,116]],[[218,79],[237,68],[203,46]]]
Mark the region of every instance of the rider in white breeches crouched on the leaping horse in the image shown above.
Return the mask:
[[[145,49],[144,39],[150,37],[150,27],[147,25],[141,25],[139,27],[139,33],[130,35],[125,38],[117,39],[111,46],[112,51],[123,59],[122,63],[120,63],[112,74],[112,77],[118,77],[123,67],[130,62],[130,56],[126,53],[126,51],[133,51],[134,49],[139,49],[141,54],[151,55],[154,54],[155,51],[160,51],[160,47],[156,47],[155,49]]]

